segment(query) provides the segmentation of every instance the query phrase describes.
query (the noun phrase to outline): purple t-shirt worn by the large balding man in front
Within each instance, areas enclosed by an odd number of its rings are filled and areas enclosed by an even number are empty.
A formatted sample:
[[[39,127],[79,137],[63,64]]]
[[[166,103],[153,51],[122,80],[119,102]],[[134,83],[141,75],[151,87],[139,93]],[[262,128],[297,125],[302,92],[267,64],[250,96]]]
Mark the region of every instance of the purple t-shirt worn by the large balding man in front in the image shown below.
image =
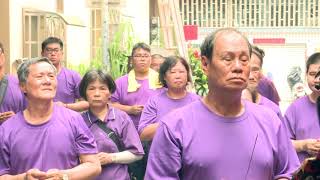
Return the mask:
[[[297,154],[277,115],[245,102],[237,118],[221,117],[202,101],[161,120],[145,179],[259,179],[290,177]]]

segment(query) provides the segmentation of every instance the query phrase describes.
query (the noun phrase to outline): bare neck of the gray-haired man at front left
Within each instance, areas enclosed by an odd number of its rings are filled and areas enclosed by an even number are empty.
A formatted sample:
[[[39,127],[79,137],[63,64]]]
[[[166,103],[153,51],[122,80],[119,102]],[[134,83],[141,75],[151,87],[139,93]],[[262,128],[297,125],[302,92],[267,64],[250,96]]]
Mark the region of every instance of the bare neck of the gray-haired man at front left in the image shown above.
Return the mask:
[[[53,101],[28,101],[28,107],[23,111],[23,115],[30,124],[43,124],[51,118],[53,105]]]

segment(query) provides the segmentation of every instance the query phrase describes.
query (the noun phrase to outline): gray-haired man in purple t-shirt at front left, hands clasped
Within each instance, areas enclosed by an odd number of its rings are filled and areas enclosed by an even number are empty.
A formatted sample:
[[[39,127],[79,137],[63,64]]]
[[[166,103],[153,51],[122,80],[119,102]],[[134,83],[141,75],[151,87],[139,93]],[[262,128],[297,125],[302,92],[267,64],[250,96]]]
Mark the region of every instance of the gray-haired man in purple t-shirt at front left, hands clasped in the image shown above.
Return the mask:
[[[53,103],[53,64],[28,60],[18,78],[28,106],[0,126],[0,179],[96,177],[101,167],[93,135],[80,114]]]

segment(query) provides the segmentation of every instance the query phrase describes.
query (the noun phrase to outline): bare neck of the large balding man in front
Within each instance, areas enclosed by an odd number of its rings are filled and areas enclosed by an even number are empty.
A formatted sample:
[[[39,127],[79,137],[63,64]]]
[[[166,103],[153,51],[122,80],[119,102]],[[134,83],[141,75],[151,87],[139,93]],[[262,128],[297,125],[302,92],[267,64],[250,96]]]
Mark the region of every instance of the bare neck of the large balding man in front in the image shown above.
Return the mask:
[[[241,93],[219,93],[209,91],[203,99],[204,104],[210,111],[224,117],[238,117],[244,113],[244,106],[241,103]]]

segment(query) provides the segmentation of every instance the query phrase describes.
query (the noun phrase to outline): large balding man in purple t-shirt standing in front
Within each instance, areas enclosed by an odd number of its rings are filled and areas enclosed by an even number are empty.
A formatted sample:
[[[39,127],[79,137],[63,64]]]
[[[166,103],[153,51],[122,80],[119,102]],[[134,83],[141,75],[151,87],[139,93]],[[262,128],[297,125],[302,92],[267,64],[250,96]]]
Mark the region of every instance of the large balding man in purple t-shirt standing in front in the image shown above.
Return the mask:
[[[290,179],[299,161],[271,110],[241,100],[251,46],[219,29],[201,46],[209,93],[162,118],[151,146],[149,179]]]

